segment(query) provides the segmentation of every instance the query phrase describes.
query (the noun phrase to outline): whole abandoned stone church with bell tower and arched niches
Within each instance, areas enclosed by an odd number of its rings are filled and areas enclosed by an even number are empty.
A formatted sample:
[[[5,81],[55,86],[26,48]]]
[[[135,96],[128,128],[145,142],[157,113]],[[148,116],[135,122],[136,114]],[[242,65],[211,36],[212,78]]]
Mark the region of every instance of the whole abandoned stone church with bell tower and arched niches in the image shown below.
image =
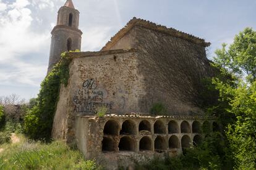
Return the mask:
[[[80,50],[79,11],[59,9],[48,72],[62,52]],[[209,42],[174,28],[132,18],[98,52],[69,52],[69,81],[61,86],[52,136],[77,145],[108,169],[132,167],[154,156],[182,154],[218,128],[198,107],[201,80],[212,70]],[[151,115],[155,103],[166,114]],[[108,108],[104,116],[96,109]]]

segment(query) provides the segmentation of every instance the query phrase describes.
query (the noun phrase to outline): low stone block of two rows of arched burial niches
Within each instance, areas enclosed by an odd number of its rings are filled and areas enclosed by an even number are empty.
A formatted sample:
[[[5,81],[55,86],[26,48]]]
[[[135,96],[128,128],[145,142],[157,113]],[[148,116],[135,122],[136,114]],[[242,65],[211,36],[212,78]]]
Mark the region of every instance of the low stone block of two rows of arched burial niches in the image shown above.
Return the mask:
[[[87,159],[97,158],[107,169],[134,168],[152,158],[177,156],[218,128],[202,116],[77,116],[77,145]]]

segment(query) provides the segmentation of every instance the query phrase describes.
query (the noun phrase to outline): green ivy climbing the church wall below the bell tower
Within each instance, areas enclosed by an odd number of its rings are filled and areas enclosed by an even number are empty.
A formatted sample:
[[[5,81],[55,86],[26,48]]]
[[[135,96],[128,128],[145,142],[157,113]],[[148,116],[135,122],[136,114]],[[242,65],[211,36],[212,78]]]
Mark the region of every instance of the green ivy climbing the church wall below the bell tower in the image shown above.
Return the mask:
[[[67,86],[69,79],[69,63],[70,59],[66,53],[62,54],[61,61],[41,83],[37,99],[30,101],[33,107],[25,116],[24,130],[32,139],[49,140],[51,137],[59,90],[61,84]]]

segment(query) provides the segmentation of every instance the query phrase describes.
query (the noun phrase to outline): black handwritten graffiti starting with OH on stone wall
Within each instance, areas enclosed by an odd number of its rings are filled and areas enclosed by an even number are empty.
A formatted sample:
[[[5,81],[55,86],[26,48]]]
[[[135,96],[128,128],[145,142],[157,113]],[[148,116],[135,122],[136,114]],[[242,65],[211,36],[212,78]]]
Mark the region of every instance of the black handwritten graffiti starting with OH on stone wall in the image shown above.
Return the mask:
[[[87,79],[82,83],[82,87],[75,91],[73,97],[74,111],[76,113],[95,114],[99,107],[106,107],[111,110],[113,102],[106,102],[107,96],[107,91],[98,87],[95,80]]]

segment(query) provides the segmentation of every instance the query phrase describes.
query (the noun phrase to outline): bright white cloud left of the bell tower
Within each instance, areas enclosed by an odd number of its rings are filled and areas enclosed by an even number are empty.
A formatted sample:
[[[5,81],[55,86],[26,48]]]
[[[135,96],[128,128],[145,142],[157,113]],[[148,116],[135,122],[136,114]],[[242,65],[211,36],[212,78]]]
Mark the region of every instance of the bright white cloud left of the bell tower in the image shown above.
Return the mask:
[[[28,84],[39,86],[38,79],[45,76],[46,67],[40,63],[25,62],[24,55],[40,52],[48,45],[49,31],[35,33],[32,29],[32,10],[27,0],[6,4],[0,20],[0,84]],[[35,58],[32,58],[35,60]]]

